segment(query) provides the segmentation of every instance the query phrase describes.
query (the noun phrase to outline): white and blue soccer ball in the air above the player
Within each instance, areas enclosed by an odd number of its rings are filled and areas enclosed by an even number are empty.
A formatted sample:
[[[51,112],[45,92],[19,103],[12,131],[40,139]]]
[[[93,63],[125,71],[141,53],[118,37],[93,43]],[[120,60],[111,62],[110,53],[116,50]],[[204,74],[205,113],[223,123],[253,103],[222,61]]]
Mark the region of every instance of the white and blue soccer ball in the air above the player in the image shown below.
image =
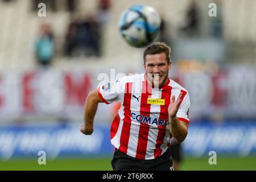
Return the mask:
[[[123,11],[119,31],[123,39],[133,47],[145,47],[159,34],[161,18],[154,8],[134,5]]]

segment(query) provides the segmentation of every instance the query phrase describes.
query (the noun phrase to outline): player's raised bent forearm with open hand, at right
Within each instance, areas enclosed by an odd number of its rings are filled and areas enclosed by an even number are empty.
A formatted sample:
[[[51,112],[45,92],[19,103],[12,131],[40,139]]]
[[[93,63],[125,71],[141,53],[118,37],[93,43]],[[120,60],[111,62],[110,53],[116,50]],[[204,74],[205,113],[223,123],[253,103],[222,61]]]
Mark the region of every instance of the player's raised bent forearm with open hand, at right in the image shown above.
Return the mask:
[[[177,98],[176,101],[175,96],[172,96],[171,103],[168,107],[170,133],[179,143],[183,142],[188,134],[188,123],[179,121],[179,119],[176,117],[177,111],[179,110],[181,104],[182,94],[183,93],[179,94],[179,97]]]

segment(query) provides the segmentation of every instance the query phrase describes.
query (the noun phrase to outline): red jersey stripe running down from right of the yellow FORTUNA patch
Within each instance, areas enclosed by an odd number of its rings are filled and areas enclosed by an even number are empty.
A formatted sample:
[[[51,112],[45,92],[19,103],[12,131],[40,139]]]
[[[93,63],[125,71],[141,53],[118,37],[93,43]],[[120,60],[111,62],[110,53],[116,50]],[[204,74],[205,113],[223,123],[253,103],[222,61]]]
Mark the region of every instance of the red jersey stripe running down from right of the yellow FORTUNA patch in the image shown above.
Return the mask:
[[[169,119],[168,117],[168,106],[170,105],[171,101],[171,93],[172,93],[172,87],[169,85],[165,85],[162,90],[162,96],[161,98],[165,100],[165,104],[160,106],[160,115],[159,119],[164,119],[164,121],[167,121]],[[155,152],[154,157],[161,156],[162,155],[162,148],[161,144],[164,142],[164,136],[166,135],[166,126],[158,126],[158,138],[156,138],[156,146],[155,146]]]

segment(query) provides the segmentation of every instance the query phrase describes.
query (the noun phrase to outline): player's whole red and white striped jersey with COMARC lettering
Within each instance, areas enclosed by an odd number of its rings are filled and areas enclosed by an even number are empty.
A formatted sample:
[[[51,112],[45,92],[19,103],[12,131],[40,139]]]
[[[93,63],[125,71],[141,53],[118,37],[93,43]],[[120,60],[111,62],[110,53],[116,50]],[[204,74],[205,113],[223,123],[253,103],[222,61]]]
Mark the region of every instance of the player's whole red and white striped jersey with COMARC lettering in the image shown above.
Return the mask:
[[[125,76],[98,88],[106,103],[121,102],[121,109],[110,129],[111,143],[125,154],[138,159],[161,156],[170,145],[168,106],[171,96],[183,92],[177,111],[181,122],[189,123],[187,90],[168,78],[162,88],[151,88],[146,74]]]

